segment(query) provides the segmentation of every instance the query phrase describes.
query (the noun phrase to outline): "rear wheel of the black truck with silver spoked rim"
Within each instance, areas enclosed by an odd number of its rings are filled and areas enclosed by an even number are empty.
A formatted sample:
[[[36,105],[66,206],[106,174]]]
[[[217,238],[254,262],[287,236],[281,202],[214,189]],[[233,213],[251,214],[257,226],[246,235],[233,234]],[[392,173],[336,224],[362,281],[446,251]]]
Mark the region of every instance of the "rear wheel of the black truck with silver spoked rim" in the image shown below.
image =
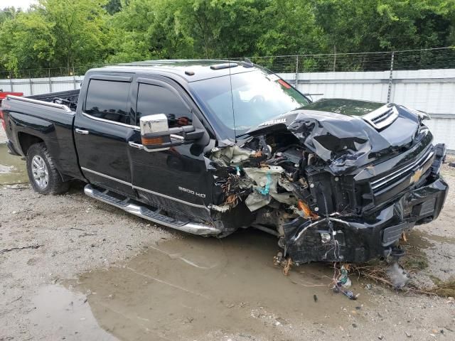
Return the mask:
[[[33,144],[27,151],[27,173],[35,192],[49,195],[68,191],[70,183],[63,182],[45,144]]]

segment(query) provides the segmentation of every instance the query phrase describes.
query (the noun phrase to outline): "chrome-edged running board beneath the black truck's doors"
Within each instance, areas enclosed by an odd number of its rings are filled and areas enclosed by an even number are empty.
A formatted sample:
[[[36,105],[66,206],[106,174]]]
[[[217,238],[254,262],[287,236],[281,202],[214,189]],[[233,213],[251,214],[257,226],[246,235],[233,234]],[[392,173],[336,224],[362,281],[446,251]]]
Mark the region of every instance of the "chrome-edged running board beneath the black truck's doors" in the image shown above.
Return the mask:
[[[160,210],[151,210],[149,207],[143,206],[128,197],[119,199],[119,195],[114,195],[114,193],[109,192],[109,190],[98,190],[97,188],[93,188],[90,184],[85,185],[84,193],[89,197],[93,197],[94,199],[106,202],[112,206],[119,207],[132,215],[137,215],[138,217],[150,220],[151,222],[156,222],[157,224],[172,227],[173,229],[178,229],[183,232],[202,236],[215,236],[221,233],[219,229],[209,224],[198,224],[189,221],[182,222],[181,220],[173,219],[167,215],[159,213]]]

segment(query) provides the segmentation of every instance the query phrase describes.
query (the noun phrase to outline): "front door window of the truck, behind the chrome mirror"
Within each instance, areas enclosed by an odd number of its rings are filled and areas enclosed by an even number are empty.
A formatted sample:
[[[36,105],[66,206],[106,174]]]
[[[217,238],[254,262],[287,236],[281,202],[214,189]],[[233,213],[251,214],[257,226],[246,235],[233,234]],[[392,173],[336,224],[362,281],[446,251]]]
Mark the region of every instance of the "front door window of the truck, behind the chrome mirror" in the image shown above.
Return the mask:
[[[159,85],[139,83],[136,125],[139,126],[141,117],[153,114],[165,114],[169,128],[191,125],[193,119],[190,110],[176,93]]]

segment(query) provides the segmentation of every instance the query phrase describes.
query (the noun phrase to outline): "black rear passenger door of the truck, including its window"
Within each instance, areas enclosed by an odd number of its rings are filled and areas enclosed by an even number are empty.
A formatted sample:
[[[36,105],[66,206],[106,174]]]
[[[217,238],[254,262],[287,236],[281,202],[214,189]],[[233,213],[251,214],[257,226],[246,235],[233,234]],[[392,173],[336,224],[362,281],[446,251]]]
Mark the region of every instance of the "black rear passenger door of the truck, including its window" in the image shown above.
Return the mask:
[[[131,112],[131,75],[89,75],[78,107],[74,136],[82,172],[90,183],[134,195],[129,141],[136,127]],[[81,108],[81,109],[80,109]]]

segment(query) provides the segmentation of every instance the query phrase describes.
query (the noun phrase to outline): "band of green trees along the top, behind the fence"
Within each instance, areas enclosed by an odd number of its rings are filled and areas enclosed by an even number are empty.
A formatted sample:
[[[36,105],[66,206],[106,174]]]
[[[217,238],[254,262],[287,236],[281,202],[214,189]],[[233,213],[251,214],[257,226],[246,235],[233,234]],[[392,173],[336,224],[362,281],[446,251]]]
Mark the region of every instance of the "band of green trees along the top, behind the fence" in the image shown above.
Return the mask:
[[[25,12],[0,11],[0,70],[12,72],[454,44],[455,0],[39,0]]]

